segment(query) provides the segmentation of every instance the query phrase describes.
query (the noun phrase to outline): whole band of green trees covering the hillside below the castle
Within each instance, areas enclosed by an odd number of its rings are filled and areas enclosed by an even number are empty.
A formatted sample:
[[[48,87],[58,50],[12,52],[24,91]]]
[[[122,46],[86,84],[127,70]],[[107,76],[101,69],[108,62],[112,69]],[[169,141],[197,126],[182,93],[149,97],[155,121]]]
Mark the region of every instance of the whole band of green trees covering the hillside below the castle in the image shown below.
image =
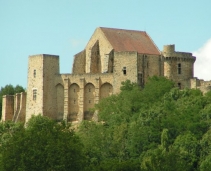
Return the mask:
[[[2,123],[2,170],[210,170],[211,92],[180,90],[163,77],[144,89],[126,81],[96,110],[99,122],[76,131],[41,116],[27,127]]]

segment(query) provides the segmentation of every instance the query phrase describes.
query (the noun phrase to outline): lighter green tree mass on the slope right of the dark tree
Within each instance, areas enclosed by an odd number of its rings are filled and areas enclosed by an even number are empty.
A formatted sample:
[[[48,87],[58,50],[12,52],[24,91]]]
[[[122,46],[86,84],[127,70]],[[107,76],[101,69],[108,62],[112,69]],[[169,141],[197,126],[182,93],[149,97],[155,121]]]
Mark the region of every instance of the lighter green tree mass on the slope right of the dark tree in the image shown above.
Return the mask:
[[[79,128],[96,170],[207,170],[211,162],[211,92],[174,87],[152,77],[145,88],[130,81],[98,105],[99,123]]]

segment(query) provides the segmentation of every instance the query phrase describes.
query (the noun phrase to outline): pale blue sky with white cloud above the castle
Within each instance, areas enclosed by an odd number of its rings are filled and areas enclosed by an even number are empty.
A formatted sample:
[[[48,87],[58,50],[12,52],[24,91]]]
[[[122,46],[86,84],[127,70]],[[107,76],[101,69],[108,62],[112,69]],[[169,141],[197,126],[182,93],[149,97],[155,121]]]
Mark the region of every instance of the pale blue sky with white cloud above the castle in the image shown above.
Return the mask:
[[[157,47],[196,56],[194,77],[211,80],[210,0],[0,0],[0,87],[27,88],[28,56],[60,56],[60,73],[97,27],[146,31]]]

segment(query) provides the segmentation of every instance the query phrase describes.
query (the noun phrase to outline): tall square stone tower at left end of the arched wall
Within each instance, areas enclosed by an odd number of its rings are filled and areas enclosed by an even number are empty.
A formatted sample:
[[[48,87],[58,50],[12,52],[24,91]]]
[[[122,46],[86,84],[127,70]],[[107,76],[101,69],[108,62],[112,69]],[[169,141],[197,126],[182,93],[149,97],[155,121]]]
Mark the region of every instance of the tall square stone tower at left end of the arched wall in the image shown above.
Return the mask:
[[[55,77],[59,74],[59,56],[29,56],[26,121],[32,115],[56,119]]]

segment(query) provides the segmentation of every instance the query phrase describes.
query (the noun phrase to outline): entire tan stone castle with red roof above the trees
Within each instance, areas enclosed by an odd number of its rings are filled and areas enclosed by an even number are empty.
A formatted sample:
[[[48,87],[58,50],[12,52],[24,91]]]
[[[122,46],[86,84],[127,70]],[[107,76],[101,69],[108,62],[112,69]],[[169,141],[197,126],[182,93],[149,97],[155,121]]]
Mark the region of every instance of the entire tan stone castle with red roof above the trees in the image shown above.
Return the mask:
[[[68,122],[95,120],[97,114],[89,109],[120,92],[122,81],[144,86],[154,75],[205,92],[211,82],[193,77],[195,60],[174,45],[160,51],[144,31],[99,27],[74,56],[72,74],[60,74],[59,56],[29,56],[27,93],[3,97],[2,121],[27,122],[37,114]]]

